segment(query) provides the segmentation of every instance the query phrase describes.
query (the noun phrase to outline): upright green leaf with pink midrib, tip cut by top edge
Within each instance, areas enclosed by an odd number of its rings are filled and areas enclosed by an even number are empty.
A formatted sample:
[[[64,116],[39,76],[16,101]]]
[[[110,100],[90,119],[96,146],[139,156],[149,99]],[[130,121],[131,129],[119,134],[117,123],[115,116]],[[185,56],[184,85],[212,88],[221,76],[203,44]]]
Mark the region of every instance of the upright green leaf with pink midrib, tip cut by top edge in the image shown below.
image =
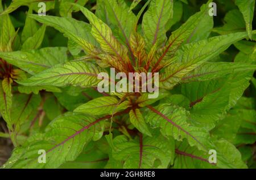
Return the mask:
[[[142,20],[143,36],[146,49],[162,46],[166,41],[166,23],[172,18],[173,2],[168,0],[152,0]]]

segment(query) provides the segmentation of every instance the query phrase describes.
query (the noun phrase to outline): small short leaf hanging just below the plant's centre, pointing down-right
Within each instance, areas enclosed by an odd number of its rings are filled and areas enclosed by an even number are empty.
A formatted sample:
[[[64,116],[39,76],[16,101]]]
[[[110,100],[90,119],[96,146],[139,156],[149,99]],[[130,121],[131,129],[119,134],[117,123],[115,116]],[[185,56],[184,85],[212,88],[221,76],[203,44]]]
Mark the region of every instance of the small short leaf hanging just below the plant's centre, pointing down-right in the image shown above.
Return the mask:
[[[139,109],[130,110],[130,121],[131,123],[143,134],[152,136],[148,126],[144,120],[144,117]]]

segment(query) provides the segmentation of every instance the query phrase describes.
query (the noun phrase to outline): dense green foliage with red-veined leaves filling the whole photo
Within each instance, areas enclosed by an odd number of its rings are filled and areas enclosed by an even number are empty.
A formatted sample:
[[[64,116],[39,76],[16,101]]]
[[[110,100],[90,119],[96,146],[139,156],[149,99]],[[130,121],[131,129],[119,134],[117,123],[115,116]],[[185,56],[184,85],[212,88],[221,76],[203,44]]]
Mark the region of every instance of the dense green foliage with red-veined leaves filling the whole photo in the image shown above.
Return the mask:
[[[255,168],[255,1],[210,2],[3,1],[2,168]],[[98,92],[110,68],[159,96]]]

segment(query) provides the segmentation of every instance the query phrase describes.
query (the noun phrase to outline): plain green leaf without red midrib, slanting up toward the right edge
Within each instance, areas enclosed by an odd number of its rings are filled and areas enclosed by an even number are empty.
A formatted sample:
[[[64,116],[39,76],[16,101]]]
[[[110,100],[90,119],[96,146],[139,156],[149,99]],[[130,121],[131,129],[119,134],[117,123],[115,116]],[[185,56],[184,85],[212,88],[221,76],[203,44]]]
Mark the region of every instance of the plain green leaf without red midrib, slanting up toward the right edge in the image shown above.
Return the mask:
[[[213,128],[216,122],[224,118],[226,112],[236,105],[237,100],[249,86],[252,74],[250,71],[245,71],[228,76],[224,84],[193,105],[191,121],[197,126]]]

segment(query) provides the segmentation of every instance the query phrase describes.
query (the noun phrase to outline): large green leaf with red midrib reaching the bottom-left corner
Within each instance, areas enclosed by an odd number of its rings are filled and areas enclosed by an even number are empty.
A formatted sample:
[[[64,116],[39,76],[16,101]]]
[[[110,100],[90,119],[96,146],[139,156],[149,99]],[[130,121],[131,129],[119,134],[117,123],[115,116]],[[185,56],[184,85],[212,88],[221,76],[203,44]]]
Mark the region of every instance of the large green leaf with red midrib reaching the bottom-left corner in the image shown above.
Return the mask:
[[[102,135],[100,120],[89,115],[65,113],[52,121],[40,139],[28,140],[3,165],[3,168],[58,168],[76,160],[85,144]],[[46,163],[38,163],[39,150],[46,151]]]

